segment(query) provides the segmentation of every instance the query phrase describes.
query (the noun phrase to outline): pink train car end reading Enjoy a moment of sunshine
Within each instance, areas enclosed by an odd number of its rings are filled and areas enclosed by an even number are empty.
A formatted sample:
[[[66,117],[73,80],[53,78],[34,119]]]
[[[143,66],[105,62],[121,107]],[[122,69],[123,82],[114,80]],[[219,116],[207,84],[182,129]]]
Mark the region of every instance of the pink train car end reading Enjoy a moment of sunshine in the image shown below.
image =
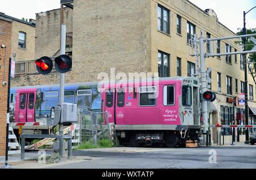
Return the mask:
[[[164,143],[184,146],[198,140],[200,95],[196,78],[159,78],[147,83],[102,85],[102,111],[114,123],[119,143],[138,147]]]

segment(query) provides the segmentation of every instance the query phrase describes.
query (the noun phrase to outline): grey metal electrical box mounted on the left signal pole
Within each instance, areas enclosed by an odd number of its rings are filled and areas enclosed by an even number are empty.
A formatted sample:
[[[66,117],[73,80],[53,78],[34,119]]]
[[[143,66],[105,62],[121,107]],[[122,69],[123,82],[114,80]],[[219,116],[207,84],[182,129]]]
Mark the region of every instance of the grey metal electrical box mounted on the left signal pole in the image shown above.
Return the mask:
[[[60,123],[77,122],[77,105],[63,102],[61,104]]]

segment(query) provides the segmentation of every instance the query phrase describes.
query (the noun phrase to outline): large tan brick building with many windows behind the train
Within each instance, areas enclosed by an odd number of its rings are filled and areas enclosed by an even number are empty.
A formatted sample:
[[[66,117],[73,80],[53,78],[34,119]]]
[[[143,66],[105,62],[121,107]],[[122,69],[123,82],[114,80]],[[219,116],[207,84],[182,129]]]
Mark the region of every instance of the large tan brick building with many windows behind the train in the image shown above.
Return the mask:
[[[59,10],[37,15],[36,57],[52,55],[59,48]],[[130,0],[112,1],[74,0],[73,10],[65,10],[67,32],[72,31],[72,71],[67,83],[97,81],[100,72],[159,72],[159,76],[188,76],[195,74],[195,57],[189,55],[188,40],[203,31],[204,37],[236,36],[236,33],[218,21],[214,10],[202,10],[187,0]],[[242,24],[241,24],[242,25]],[[48,32],[43,27],[48,27]],[[49,35],[49,36],[48,36]],[[214,52],[239,50],[236,40],[219,41]],[[42,48],[46,43],[46,48]],[[51,46],[51,44],[54,46]],[[48,46],[50,48],[48,48]],[[207,48],[205,47],[205,50]],[[210,89],[217,94],[212,104],[210,123],[230,124],[232,117],[244,112],[244,106],[233,105],[229,97],[244,92],[244,66],[239,55],[207,58],[206,67],[212,67]],[[248,74],[250,94],[250,124],[255,124],[255,83]],[[16,76],[13,85],[58,84],[59,75],[38,75],[27,72]],[[216,134],[216,129],[213,130]],[[226,132],[230,142],[230,132]],[[216,136],[213,135],[216,141]],[[244,136],[241,136],[242,140]]]

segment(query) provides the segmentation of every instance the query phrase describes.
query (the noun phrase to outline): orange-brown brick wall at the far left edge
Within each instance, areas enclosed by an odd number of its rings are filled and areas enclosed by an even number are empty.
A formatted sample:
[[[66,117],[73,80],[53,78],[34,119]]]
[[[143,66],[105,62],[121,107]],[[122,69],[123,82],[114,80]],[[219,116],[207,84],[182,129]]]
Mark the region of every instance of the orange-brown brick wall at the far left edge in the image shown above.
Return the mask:
[[[11,47],[11,22],[0,19],[0,45],[6,46],[6,82],[8,81],[8,67]],[[0,48],[0,156],[5,155],[6,142],[6,110],[7,110],[7,85],[3,87],[5,49]]]

